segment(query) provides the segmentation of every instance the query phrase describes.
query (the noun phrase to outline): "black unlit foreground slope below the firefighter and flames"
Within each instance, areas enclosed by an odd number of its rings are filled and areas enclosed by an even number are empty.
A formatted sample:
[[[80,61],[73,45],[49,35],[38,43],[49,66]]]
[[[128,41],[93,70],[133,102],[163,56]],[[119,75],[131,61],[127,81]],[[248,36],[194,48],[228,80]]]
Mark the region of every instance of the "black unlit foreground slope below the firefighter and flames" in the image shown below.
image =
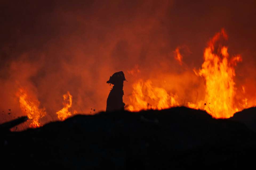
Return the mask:
[[[185,107],[77,115],[0,142],[10,169],[234,169],[254,165],[256,150],[245,124]]]

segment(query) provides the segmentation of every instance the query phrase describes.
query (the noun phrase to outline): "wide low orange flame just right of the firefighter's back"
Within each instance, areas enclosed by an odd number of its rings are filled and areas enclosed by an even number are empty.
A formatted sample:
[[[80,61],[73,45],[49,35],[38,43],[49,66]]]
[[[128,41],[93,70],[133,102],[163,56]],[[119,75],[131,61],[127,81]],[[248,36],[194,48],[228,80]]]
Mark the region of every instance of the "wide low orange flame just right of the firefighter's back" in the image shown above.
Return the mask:
[[[163,88],[152,85],[151,80],[144,82],[139,80],[133,84],[132,105],[128,106],[129,111],[141,111],[147,109],[166,109],[179,105],[175,100],[177,96],[168,94]]]

